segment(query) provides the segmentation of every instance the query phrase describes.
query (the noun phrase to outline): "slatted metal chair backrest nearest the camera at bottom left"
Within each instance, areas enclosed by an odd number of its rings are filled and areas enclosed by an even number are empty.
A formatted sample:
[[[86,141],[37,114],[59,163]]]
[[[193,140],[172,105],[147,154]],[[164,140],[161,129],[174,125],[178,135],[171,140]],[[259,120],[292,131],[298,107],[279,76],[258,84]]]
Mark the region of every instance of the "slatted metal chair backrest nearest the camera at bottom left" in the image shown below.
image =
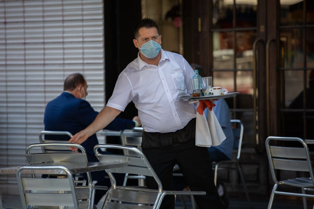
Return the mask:
[[[62,170],[67,178],[25,178],[21,177],[23,170]],[[22,166],[17,171],[19,193],[23,209],[27,205],[39,208],[57,208],[58,206],[72,206],[75,209],[88,208],[89,196],[83,192],[76,194],[72,174],[63,166]],[[90,194],[90,193],[87,193]],[[78,201],[79,200],[79,201]]]

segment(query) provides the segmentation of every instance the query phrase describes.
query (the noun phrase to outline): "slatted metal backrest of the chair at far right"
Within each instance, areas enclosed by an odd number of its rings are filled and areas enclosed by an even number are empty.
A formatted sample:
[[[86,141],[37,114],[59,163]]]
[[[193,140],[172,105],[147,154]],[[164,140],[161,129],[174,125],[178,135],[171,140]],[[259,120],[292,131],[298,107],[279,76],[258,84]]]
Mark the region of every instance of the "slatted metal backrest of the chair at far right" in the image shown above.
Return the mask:
[[[271,142],[277,142],[275,145]],[[278,142],[286,142],[280,143]],[[291,144],[287,142],[295,142]],[[296,144],[299,146],[296,147]],[[314,184],[313,167],[310,157],[310,152],[305,140],[294,137],[274,137],[270,136],[266,139],[266,151],[268,156],[268,162],[270,171],[273,177],[273,181],[280,184],[277,179],[275,169],[277,170],[290,170],[290,171],[305,171],[309,172],[312,184]]]

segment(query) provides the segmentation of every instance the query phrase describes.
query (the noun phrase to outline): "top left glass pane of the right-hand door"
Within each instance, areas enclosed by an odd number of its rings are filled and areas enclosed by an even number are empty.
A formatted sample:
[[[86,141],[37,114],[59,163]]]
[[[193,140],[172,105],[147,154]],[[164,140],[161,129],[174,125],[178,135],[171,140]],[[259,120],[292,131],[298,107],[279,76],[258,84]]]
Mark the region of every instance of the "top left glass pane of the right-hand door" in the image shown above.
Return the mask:
[[[303,23],[303,0],[280,0],[280,25]]]

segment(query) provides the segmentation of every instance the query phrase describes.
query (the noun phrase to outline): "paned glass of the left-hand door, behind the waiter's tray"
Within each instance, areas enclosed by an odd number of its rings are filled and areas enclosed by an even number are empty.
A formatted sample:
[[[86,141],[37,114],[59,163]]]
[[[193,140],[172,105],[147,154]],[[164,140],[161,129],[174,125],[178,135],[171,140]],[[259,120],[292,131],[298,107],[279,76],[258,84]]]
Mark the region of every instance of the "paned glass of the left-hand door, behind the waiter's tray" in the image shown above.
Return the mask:
[[[213,85],[240,92],[226,99],[232,118],[244,124],[243,147],[256,147],[253,44],[257,40],[257,0],[212,0]],[[257,53],[257,52],[255,52]],[[255,95],[256,96],[256,95]],[[257,104],[255,104],[257,105]]]

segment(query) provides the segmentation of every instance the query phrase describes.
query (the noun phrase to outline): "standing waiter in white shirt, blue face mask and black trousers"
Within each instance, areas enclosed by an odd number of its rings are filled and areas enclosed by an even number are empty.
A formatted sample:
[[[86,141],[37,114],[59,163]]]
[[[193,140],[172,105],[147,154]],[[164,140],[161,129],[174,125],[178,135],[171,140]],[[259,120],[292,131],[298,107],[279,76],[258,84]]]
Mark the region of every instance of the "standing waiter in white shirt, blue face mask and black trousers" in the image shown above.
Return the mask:
[[[139,21],[134,37],[133,43],[139,49],[137,59],[121,72],[111,98],[95,121],[69,142],[81,144],[133,101],[144,129],[143,153],[163,189],[173,189],[172,171],[177,163],[191,191],[206,191],[206,195],[195,196],[200,209],[223,208],[208,150],[195,146],[194,104],[179,98],[191,93],[189,79],[194,75],[191,66],[181,55],[161,49],[161,35],[154,20]],[[158,188],[152,177],[147,177],[146,183],[148,188]],[[166,196],[161,208],[174,207],[174,196]]]

